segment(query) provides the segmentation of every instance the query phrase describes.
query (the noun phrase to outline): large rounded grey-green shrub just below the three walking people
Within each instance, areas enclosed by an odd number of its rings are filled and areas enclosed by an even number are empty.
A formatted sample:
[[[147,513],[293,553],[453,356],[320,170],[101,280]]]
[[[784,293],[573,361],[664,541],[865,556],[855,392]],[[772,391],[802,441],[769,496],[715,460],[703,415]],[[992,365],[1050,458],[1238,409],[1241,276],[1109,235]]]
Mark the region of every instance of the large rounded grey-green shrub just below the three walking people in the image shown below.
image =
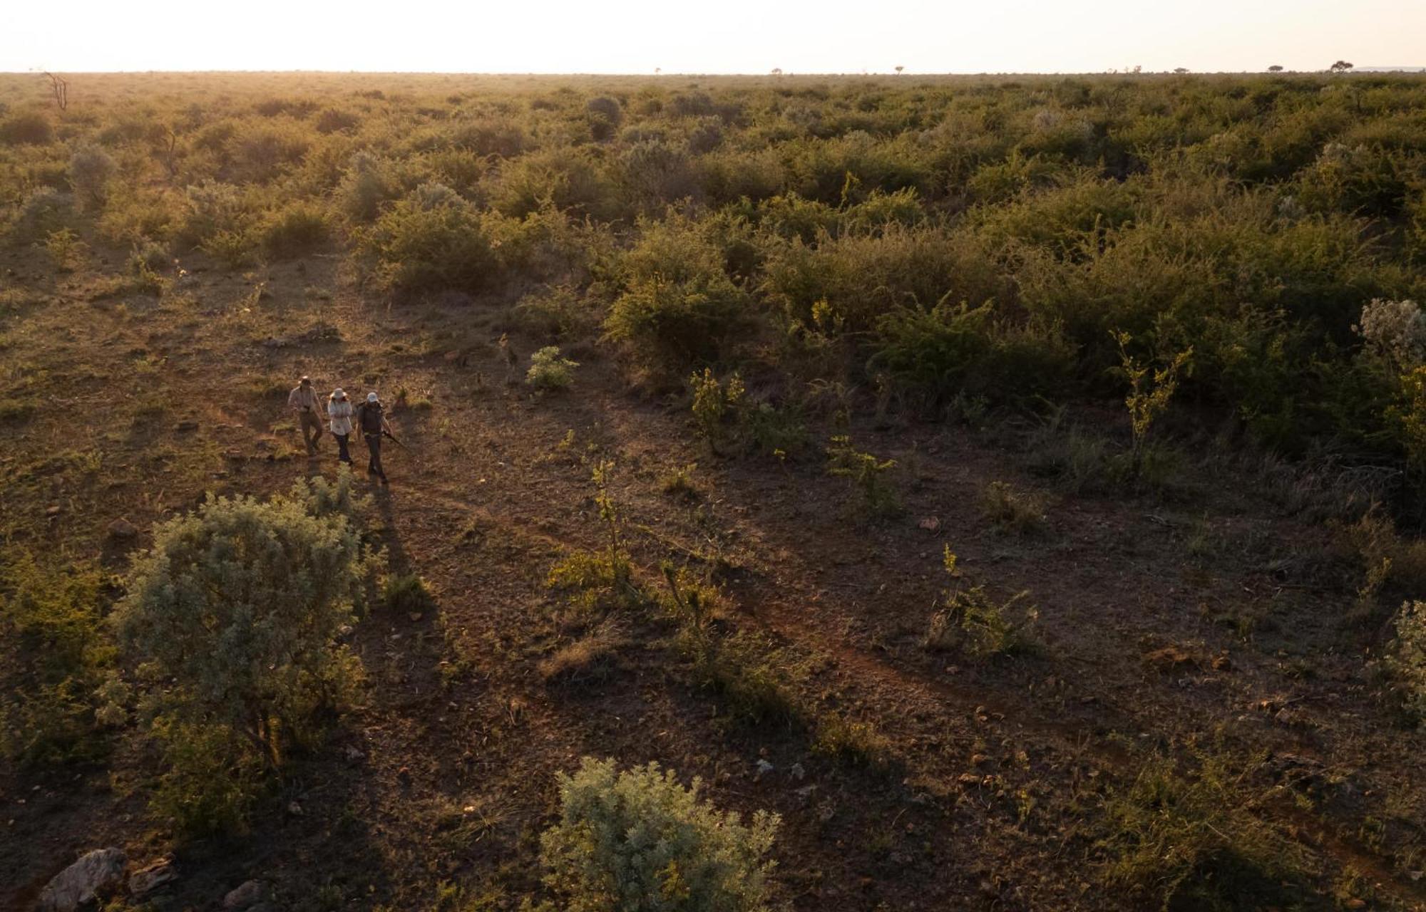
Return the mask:
[[[371,556],[347,514],[315,514],[318,500],[341,496],[298,482],[267,503],[210,497],[155,530],[116,613],[124,651],[164,684],[161,714],[225,730],[268,767],[359,675],[338,638],[365,600]]]

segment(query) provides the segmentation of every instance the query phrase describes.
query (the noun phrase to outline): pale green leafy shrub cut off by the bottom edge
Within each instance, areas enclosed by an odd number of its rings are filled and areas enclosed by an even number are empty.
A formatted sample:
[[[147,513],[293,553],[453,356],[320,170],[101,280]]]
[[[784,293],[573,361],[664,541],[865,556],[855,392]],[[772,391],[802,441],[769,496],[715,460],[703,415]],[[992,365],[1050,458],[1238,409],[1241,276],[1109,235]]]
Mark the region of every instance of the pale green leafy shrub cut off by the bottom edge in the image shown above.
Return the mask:
[[[657,764],[585,758],[559,775],[559,822],[540,836],[545,884],[570,912],[764,912],[780,819],[743,824]]]

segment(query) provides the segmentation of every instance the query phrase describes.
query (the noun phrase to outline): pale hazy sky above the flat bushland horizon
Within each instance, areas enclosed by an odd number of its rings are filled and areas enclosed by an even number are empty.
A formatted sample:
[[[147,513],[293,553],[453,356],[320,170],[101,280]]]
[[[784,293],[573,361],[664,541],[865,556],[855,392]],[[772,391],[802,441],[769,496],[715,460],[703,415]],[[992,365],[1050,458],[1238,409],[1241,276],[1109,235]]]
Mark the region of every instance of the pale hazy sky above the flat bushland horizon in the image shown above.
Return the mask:
[[[0,71],[1426,66],[1426,0],[0,0]]]

